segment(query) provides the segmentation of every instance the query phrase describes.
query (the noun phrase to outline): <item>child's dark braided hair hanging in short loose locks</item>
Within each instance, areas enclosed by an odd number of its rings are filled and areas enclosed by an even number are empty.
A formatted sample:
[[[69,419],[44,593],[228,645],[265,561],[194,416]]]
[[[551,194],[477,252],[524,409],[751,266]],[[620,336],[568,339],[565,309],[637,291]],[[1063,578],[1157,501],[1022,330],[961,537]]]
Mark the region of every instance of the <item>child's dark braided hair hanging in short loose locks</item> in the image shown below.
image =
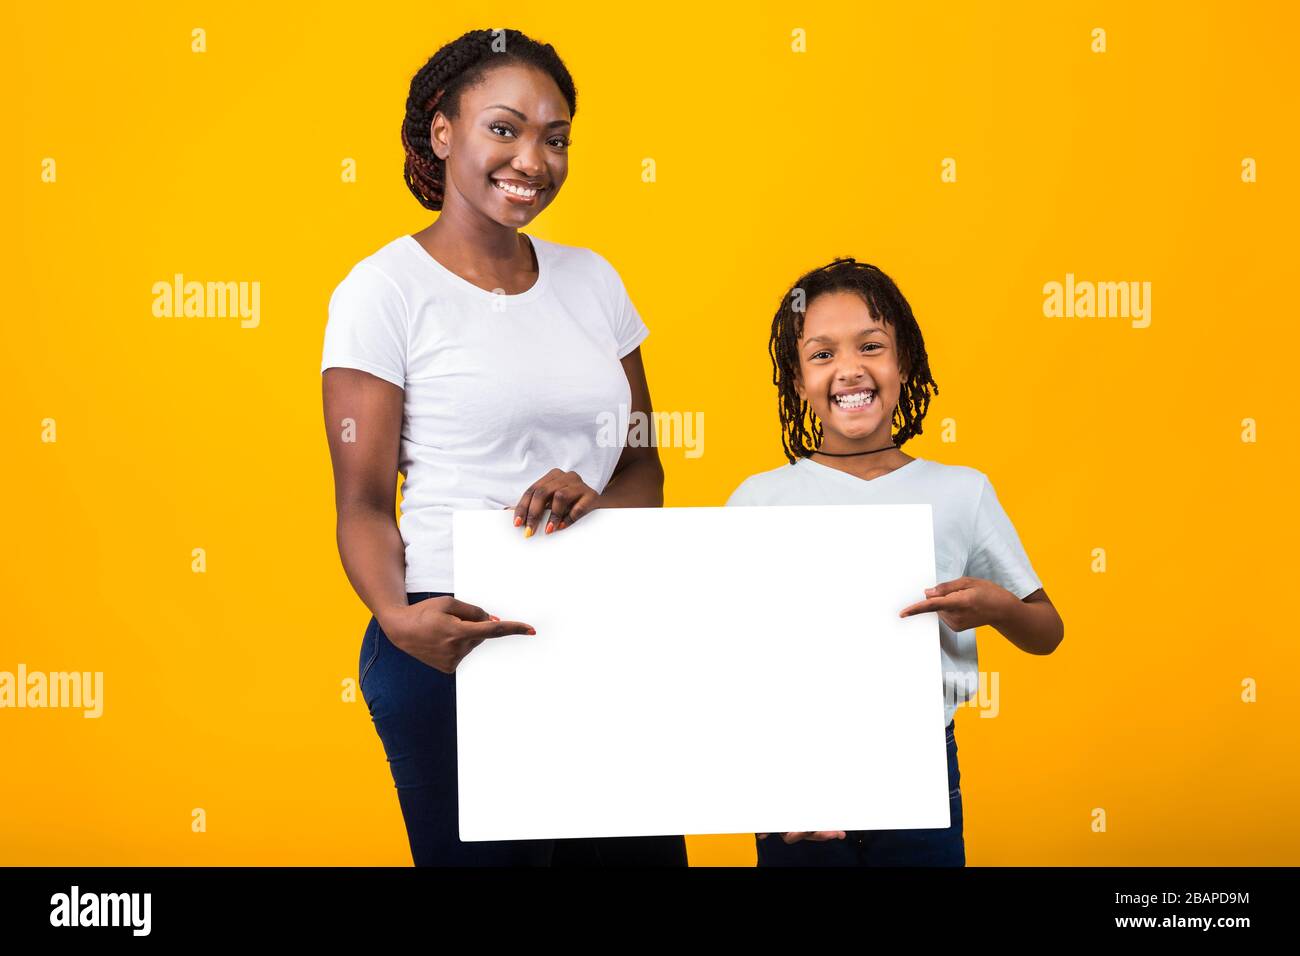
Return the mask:
[[[939,385],[930,373],[926,339],[911,313],[911,306],[898,286],[875,265],[855,259],[835,259],[819,269],[801,276],[781,299],[772,319],[768,354],[772,356],[772,384],[777,388],[777,412],[781,419],[781,444],[785,458],[793,464],[807,458],[822,445],[822,423],[809,402],[800,398],[794,377],[800,371],[798,342],[803,334],[803,315],[819,295],[849,291],[858,295],[876,321],[893,326],[901,367],[907,369],[894,410],[894,445],[920,434],[920,423],[930,407],[931,393]],[[801,294],[802,293],[802,294]]]

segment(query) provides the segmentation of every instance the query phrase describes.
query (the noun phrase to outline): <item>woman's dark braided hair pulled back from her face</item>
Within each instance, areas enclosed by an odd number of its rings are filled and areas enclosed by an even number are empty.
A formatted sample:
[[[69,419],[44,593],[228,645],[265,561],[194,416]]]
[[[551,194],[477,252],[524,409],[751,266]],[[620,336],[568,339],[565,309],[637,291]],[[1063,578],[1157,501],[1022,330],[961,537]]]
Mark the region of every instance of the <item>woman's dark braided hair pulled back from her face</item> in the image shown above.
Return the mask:
[[[525,64],[547,73],[568,103],[569,117],[577,112],[573,78],[549,43],[538,43],[519,30],[471,30],[452,40],[411,78],[402,147],[406,150],[407,189],[426,209],[441,209],[446,189],[446,164],[433,152],[429,130],[436,111],[455,120],[460,94],[482,79],[488,70],[506,64]]]

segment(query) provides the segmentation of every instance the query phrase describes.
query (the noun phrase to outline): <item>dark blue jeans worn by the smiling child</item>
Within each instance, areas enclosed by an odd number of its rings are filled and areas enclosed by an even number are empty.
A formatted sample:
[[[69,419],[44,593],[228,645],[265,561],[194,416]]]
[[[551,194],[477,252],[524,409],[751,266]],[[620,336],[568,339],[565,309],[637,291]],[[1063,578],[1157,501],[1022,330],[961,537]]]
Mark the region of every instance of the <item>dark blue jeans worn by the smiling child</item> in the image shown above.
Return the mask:
[[[962,771],[957,766],[956,721],[946,727],[948,805],[953,822],[945,830],[849,830],[842,840],[785,843],[768,834],[758,844],[759,866],[965,866],[962,836]]]

